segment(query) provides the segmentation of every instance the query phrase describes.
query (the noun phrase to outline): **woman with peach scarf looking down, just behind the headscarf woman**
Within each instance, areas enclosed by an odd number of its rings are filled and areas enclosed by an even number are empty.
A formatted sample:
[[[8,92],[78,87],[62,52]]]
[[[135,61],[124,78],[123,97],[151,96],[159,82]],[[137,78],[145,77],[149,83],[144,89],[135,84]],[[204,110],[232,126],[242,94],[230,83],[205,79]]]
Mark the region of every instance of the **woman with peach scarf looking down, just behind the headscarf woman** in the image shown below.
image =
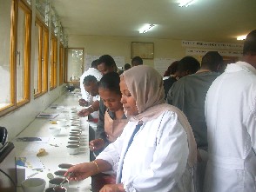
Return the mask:
[[[104,132],[106,141],[102,138],[92,140],[89,143],[91,151],[102,150],[109,143],[116,141],[121,135],[128,120],[125,116],[122,94],[120,92],[120,78],[118,73],[105,74],[98,83],[98,93],[107,110],[104,113]]]

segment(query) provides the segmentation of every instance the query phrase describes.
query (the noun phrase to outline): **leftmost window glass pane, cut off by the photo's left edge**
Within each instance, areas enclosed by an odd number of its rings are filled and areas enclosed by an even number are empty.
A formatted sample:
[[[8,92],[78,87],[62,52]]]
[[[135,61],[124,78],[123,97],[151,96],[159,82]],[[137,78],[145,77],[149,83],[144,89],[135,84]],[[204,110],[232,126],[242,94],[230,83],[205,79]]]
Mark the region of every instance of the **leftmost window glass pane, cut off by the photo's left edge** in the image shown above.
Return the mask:
[[[0,6],[0,110],[10,105],[10,9],[11,1]],[[3,27],[4,26],[4,27]]]

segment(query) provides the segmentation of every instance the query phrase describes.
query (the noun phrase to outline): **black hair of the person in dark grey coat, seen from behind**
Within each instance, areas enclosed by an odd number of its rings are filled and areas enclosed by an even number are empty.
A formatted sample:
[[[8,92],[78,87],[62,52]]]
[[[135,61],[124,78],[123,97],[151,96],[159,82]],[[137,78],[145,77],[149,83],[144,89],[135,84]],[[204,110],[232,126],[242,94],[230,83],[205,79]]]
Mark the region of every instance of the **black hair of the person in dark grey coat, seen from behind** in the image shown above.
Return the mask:
[[[223,64],[223,58],[218,51],[208,51],[202,58],[202,67],[217,72],[220,64]]]

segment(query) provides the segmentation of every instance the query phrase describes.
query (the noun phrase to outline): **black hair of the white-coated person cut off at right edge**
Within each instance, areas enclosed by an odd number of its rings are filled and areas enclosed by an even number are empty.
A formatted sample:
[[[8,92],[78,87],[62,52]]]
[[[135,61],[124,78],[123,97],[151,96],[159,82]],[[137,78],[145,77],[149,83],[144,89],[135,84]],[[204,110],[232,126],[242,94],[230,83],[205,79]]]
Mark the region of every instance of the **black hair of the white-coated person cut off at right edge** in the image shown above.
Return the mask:
[[[244,43],[243,55],[256,55],[256,30],[251,31]]]

